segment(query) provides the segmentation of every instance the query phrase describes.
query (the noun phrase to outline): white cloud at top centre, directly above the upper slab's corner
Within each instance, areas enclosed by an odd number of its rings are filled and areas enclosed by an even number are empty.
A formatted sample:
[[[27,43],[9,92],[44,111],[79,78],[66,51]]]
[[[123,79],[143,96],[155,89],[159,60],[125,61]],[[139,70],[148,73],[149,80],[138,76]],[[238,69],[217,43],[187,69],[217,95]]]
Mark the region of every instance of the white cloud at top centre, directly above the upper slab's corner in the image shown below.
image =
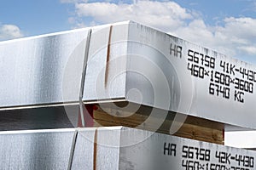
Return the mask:
[[[185,25],[185,20],[192,19],[185,8],[174,2],[77,3],[76,9],[79,17],[93,17],[98,23],[134,20],[165,31],[174,30]]]

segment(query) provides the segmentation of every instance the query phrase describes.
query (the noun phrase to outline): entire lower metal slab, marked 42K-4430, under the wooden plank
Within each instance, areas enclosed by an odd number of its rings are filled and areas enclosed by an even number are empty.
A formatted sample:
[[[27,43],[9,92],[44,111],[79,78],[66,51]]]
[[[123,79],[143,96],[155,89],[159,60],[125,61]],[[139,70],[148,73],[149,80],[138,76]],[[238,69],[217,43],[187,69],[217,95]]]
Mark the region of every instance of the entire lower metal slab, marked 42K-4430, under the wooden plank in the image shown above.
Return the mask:
[[[0,133],[1,169],[255,169],[254,151],[128,127]]]

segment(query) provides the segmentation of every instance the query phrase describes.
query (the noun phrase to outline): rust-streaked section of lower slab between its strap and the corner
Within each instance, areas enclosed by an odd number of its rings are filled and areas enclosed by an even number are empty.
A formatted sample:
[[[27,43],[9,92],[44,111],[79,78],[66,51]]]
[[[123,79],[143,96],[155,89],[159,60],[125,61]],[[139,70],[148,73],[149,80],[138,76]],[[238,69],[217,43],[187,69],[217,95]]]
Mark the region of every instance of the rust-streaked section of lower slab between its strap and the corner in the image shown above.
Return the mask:
[[[121,128],[80,128],[72,169],[119,169]]]

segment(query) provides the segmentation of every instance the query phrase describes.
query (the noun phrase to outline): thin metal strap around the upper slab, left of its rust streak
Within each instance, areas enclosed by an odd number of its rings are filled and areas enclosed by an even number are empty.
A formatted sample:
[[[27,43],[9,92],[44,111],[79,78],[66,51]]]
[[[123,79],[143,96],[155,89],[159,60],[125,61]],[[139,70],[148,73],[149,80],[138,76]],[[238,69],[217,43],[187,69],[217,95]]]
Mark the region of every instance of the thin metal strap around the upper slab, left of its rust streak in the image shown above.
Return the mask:
[[[84,65],[83,65],[81,87],[80,87],[80,93],[79,93],[79,112],[80,112],[80,116],[81,116],[82,127],[85,127],[83,94],[84,94],[84,79],[85,79],[85,74],[86,74],[86,65],[87,65],[87,60],[89,57],[90,37],[91,37],[91,29],[88,31],[87,39],[86,39],[86,46],[85,46],[85,52],[84,52]]]

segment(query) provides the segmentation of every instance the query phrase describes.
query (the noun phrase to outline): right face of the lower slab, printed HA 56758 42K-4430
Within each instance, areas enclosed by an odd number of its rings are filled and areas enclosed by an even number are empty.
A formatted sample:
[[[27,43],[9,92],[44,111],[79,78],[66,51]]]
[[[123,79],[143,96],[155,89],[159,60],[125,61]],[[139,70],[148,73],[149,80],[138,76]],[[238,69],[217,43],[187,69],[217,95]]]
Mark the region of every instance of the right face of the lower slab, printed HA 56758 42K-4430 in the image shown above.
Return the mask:
[[[119,169],[255,169],[255,152],[123,128]]]

